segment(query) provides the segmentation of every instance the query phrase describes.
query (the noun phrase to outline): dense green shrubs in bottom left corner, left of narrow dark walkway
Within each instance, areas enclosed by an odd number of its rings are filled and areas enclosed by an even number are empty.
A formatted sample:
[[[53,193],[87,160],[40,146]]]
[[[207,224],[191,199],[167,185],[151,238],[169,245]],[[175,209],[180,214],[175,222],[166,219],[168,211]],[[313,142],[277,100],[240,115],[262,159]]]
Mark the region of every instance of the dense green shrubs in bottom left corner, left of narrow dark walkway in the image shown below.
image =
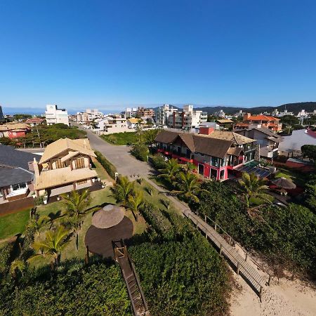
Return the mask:
[[[29,270],[0,291],[1,315],[132,315],[117,265],[70,261],[51,273]]]

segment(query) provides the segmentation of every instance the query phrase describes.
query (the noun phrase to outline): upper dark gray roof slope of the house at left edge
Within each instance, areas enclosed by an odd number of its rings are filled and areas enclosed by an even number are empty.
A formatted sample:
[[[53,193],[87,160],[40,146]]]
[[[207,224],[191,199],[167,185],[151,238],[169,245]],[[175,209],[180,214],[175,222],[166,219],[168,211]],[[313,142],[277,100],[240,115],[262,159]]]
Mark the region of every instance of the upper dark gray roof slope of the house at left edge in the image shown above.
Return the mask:
[[[28,163],[32,162],[34,158],[39,161],[41,156],[30,152],[22,152],[21,150],[16,150],[12,146],[0,144],[0,166],[20,167],[28,170]]]

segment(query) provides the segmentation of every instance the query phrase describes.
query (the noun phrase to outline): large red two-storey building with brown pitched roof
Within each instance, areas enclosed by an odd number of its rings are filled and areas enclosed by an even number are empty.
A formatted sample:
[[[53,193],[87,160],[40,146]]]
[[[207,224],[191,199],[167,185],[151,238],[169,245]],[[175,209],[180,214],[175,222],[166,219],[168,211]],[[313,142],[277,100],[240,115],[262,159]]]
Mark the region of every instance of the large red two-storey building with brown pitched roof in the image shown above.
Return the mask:
[[[204,135],[162,131],[157,150],[180,163],[191,162],[205,178],[226,180],[229,173],[254,160],[256,140],[229,131],[203,130]]]

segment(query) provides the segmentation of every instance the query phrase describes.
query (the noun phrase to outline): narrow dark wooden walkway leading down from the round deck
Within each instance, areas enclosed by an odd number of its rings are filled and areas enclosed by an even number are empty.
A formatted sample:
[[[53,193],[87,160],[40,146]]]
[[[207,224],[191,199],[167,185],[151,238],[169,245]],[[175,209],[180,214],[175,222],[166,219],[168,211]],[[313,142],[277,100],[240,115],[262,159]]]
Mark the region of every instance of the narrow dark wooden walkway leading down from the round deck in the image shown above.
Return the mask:
[[[140,281],[138,279],[135,266],[129,256],[129,253],[127,252],[124,242],[122,240],[114,242],[113,248],[115,260],[121,267],[121,273],[124,277],[126,288],[129,293],[134,315],[150,316],[143,290],[140,287]]]

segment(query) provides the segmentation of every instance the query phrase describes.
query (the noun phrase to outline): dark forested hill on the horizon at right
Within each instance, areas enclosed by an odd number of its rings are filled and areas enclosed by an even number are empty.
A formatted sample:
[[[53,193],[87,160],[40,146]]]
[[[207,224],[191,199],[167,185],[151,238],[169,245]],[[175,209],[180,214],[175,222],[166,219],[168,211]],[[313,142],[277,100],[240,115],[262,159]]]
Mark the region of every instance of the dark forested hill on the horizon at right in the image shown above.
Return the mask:
[[[236,112],[239,112],[239,110],[242,110],[243,112],[249,112],[251,114],[258,114],[261,112],[272,112],[275,109],[283,112],[285,108],[288,110],[288,112],[294,112],[294,114],[297,114],[301,110],[312,112],[316,110],[316,102],[287,103],[277,107],[195,107],[195,110],[202,110],[208,114],[214,114],[219,110],[223,110],[226,114],[235,114]]]

